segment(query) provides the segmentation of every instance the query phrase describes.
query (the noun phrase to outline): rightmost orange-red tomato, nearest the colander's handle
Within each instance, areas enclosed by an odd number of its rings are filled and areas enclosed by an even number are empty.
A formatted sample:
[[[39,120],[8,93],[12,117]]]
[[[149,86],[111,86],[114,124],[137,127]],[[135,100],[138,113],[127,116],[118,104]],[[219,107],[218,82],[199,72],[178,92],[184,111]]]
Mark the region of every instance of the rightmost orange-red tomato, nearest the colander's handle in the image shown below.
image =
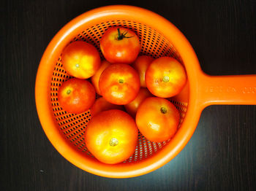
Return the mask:
[[[187,82],[184,67],[174,58],[162,57],[154,60],[146,71],[148,90],[161,98],[170,98],[181,92]]]

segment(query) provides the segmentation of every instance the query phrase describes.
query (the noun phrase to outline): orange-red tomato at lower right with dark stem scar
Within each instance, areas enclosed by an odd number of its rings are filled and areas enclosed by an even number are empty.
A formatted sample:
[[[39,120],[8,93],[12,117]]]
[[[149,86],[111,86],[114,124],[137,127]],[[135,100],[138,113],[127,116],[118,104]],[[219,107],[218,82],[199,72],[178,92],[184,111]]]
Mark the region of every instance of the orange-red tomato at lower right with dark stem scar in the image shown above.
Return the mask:
[[[144,100],[136,114],[140,133],[149,141],[162,142],[170,139],[178,128],[178,109],[165,98],[151,97]]]

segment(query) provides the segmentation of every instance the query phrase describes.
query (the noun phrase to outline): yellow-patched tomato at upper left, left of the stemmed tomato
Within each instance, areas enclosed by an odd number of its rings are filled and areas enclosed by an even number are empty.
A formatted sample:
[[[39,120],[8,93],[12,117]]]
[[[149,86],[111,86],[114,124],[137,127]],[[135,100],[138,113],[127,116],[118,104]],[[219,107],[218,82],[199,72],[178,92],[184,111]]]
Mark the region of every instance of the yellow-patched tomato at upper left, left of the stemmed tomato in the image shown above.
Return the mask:
[[[83,41],[69,44],[62,52],[61,59],[67,73],[80,79],[93,76],[100,66],[98,50]]]

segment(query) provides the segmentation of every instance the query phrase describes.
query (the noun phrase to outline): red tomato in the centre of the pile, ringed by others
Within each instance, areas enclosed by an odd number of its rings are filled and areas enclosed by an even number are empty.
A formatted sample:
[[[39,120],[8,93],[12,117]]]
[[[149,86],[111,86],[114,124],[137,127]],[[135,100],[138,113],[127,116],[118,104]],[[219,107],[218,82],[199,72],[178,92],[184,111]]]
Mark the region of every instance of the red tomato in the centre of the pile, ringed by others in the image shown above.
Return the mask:
[[[140,79],[132,66],[111,64],[99,78],[99,90],[102,96],[112,104],[129,104],[140,90]]]

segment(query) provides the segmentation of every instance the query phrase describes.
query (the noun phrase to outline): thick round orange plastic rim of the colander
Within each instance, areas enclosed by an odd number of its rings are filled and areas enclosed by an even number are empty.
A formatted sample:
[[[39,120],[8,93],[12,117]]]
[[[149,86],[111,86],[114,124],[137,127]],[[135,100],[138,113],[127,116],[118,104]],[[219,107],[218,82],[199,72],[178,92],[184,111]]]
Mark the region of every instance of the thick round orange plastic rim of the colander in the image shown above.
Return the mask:
[[[156,155],[146,158],[136,163],[119,163],[117,165],[106,165],[96,163],[94,158],[84,157],[83,152],[74,149],[72,144],[64,139],[58,128],[58,123],[53,116],[53,110],[50,102],[50,80],[53,75],[53,69],[56,61],[61,55],[64,47],[76,36],[83,31],[83,25],[94,26],[102,23],[102,20],[115,20],[125,17],[126,20],[139,20],[151,28],[157,29],[160,34],[173,44],[181,56],[184,66],[187,70],[189,82],[189,104],[187,112],[182,122],[181,128],[165,147],[160,149]],[[46,48],[42,59],[39,63],[37,71],[37,79],[35,85],[35,99],[37,105],[37,113],[42,128],[46,136],[53,144],[58,152],[63,155],[70,163],[78,166],[84,171],[99,176],[112,178],[127,178],[132,176],[140,176],[160,168],[168,163],[173,157],[176,157],[181,149],[185,147],[192,134],[195,131],[197,122],[200,117],[201,108],[198,106],[197,93],[197,74],[201,72],[197,56],[186,37],[181,31],[173,26],[164,17],[157,15],[147,9],[140,7],[132,7],[126,5],[115,5],[108,7],[99,7],[76,17],[67,23],[66,26],[53,37],[50,44]]]

